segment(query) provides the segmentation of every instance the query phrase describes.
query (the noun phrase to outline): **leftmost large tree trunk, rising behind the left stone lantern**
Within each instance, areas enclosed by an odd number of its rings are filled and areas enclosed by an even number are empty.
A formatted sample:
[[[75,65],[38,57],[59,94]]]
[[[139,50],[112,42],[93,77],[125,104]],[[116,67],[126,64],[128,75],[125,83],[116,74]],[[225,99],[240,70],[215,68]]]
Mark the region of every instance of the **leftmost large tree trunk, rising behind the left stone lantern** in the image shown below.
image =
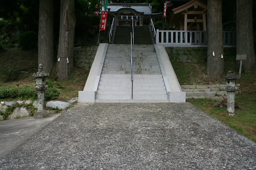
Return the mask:
[[[53,68],[53,0],[40,0],[38,27],[38,65],[44,65],[44,71],[51,73]]]

